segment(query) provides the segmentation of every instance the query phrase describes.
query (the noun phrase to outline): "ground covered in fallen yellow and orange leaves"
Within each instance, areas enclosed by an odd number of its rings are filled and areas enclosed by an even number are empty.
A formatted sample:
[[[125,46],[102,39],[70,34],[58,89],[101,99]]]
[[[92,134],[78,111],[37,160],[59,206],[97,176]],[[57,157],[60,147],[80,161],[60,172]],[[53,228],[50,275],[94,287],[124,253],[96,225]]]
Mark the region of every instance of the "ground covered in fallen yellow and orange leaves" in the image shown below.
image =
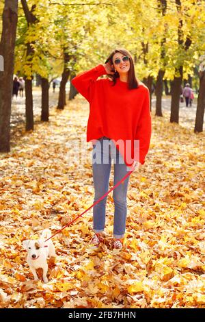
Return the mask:
[[[88,112],[76,97],[35,132],[15,132],[12,151],[0,155],[1,307],[205,307],[204,134],[169,123],[167,112],[152,111],[150,151],[131,174],[124,250],[111,249],[110,193],[102,247],[89,244],[91,209],[53,238],[49,283],[33,281],[22,241],[45,227],[54,234],[94,202],[91,143],[87,162],[68,160],[69,143],[85,138]]]

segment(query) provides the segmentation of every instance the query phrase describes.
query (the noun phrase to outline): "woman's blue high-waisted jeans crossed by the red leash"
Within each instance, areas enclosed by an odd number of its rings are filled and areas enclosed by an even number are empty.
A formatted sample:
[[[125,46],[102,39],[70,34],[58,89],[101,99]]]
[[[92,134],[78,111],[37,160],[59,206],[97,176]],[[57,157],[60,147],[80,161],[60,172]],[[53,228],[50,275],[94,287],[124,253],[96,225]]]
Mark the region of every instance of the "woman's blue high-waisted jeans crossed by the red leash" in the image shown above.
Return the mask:
[[[115,143],[110,138],[102,136],[93,145],[92,171],[94,179],[94,202],[109,190],[109,176],[112,160],[114,163],[114,185],[117,184],[131,169],[126,166],[121,153],[116,149]],[[115,206],[113,237],[122,238],[126,228],[127,204],[126,195],[130,175],[113,190]],[[93,229],[100,233],[105,229],[105,208],[107,196],[96,203],[93,208]]]

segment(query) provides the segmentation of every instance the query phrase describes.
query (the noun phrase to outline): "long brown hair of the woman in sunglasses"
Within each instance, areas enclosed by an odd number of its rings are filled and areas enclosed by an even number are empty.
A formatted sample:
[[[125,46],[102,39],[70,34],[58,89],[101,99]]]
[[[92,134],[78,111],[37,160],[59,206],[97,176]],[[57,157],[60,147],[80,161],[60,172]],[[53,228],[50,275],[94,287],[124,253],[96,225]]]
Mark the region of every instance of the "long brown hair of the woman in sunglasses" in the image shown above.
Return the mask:
[[[110,62],[110,64],[113,64],[113,55],[115,53],[122,53],[123,55],[128,56],[128,58],[130,59],[131,66],[128,71],[128,89],[132,90],[133,88],[138,88],[139,87],[139,80],[135,76],[135,67],[134,67],[133,57],[128,50],[126,50],[124,48],[113,50],[111,52],[111,54],[109,55],[109,57],[107,58],[105,64],[107,62]],[[107,74],[107,76],[113,80],[113,86],[116,84],[116,79],[120,77],[118,71],[116,71],[113,75]]]

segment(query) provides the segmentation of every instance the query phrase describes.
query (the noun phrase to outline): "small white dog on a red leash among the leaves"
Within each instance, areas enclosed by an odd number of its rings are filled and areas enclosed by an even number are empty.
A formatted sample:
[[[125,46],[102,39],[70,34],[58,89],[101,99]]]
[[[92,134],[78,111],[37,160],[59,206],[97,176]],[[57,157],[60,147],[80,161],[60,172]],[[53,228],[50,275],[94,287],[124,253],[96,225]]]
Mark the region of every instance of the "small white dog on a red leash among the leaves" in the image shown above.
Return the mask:
[[[24,240],[23,248],[27,249],[27,263],[33,273],[34,280],[38,280],[36,269],[42,268],[44,283],[49,282],[47,278],[48,264],[47,257],[55,257],[55,247],[51,239],[45,242],[46,239],[51,237],[51,230],[43,230],[39,239],[37,240]]]

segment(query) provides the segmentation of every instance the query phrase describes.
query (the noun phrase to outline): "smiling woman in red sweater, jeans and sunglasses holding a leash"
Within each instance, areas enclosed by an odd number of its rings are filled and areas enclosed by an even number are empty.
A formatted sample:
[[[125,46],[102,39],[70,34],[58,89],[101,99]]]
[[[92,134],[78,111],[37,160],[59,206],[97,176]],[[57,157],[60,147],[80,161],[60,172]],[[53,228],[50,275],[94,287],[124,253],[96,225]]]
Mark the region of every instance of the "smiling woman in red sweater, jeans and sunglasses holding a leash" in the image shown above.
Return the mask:
[[[107,75],[108,78],[97,79],[101,75]],[[92,169],[96,202],[109,190],[112,160],[114,185],[127,171],[139,169],[145,162],[151,138],[149,90],[136,79],[133,58],[126,49],[115,49],[105,64],[98,64],[80,73],[72,79],[72,84],[90,103],[87,142],[93,143]],[[94,162],[94,156],[98,162]],[[115,249],[123,246],[129,177],[113,190]],[[93,208],[95,234],[92,243],[97,247],[105,236],[106,201],[107,196]]]

